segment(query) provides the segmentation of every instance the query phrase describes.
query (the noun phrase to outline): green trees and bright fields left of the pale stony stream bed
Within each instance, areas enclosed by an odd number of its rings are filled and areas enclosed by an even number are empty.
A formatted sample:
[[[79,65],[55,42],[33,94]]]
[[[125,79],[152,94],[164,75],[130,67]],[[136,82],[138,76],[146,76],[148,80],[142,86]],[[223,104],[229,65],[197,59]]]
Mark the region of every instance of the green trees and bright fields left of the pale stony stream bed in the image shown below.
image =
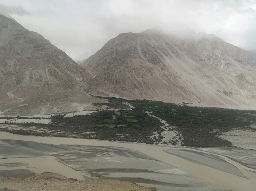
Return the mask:
[[[109,141],[130,141],[153,144],[150,138],[155,132],[161,132],[162,123],[140,110],[99,111],[90,115],[53,119],[53,124],[38,124],[38,127],[52,131],[42,133],[36,131],[12,131],[22,135],[60,136],[84,139],[100,139]],[[129,116],[129,117],[127,117]],[[113,123],[113,124],[109,124]],[[35,124],[24,124],[24,126]],[[8,130],[5,130],[9,132]],[[61,132],[60,134],[58,132]]]

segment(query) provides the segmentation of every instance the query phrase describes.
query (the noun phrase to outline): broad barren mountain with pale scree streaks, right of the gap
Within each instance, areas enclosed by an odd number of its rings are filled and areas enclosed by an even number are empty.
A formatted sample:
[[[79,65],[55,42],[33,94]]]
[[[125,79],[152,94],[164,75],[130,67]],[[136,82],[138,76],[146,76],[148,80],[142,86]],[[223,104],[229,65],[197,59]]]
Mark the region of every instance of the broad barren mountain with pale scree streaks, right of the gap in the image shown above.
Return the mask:
[[[94,77],[92,94],[249,106],[256,105],[255,61],[215,36],[181,40],[150,29],[120,34],[81,66]]]

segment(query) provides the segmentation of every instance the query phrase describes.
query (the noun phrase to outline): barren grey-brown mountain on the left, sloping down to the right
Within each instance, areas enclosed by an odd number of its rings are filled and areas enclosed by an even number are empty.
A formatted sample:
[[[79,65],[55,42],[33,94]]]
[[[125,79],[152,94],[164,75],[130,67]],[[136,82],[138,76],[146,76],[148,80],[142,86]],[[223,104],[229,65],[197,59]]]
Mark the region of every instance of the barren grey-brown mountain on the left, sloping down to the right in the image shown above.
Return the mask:
[[[66,53],[40,34],[0,15],[0,111],[16,108],[20,114],[36,108],[36,114],[61,112],[64,109],[60,109],[63,104],[59,100],[78,95],[80,101],[90,99],[81,91],[89,82],[88,73]],[[17,113],[12,111],[7,113]]]

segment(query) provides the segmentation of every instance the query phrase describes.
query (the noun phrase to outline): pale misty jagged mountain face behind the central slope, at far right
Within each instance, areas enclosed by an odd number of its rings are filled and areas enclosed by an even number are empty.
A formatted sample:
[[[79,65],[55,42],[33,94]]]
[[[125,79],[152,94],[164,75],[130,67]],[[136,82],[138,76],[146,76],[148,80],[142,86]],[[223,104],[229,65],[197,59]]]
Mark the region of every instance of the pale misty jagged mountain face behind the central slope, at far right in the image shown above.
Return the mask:
[[[205,33],[193,33],[185,39],[185,48],[196,53],[206,63],[250,84],[256,84],[256,56],[222,39]]]

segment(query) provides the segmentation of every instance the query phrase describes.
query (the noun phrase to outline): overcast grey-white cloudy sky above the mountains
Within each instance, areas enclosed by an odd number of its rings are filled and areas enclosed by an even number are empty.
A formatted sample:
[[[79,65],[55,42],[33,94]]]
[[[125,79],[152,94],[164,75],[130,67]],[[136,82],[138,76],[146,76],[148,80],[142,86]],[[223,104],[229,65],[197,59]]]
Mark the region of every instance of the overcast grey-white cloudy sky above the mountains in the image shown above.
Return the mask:
[[[10,15],[66,52],[88,58],[123,32],[191,28],[256,50],[256,0],[0,0]]]

